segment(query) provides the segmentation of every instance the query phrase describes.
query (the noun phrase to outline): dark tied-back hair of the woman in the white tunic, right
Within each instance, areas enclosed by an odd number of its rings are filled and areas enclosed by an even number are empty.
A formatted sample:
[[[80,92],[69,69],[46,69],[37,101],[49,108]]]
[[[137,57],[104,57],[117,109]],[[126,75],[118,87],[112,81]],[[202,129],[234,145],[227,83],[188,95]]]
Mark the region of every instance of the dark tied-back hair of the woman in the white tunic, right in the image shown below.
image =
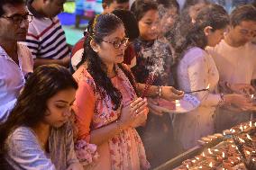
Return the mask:
[[[208,4],[200,10],[196,22],[191,22],[191,17],[182,14],[175,25],[174,46],[176,58],[183,55],[189,47],[205,49],[207,45],[204,29],[211,26],[213,31],[224,29],[229,24],[228,13],[219,4]]]

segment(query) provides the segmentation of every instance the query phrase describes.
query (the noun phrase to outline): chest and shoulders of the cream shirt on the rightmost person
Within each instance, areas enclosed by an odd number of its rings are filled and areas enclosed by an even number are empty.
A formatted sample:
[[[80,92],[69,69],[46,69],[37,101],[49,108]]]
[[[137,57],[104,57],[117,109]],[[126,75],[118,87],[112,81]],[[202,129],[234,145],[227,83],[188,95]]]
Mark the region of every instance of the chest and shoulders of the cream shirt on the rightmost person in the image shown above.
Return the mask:
[[[247,43],[234,48],[222,40],[207,51],[215,59],[221,81],[251,84],[251,79],[256,78],[256,45]]]

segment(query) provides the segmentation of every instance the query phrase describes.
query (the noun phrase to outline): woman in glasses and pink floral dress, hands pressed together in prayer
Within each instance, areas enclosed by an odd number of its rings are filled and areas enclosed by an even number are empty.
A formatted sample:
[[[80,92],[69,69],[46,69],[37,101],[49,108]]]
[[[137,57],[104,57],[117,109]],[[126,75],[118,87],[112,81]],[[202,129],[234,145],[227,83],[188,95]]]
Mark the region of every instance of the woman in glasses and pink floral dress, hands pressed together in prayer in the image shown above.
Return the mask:
[[[134,129],[147,118],[147,101],[138,98],[123,62],[128,45],[123,22],[114,14],[89,22],[85,53],[74,77],[78,141],[96,144],[98,159],[88,169],[149,169],[142,140]]]

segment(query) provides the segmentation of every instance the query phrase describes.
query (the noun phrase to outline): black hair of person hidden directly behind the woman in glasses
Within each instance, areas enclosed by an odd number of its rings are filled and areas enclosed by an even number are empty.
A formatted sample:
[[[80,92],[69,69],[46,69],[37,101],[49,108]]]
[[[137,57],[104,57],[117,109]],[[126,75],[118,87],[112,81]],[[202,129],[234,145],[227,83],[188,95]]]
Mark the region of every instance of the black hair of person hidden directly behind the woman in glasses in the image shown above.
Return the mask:
[[[137,39],[140,35],[138,22],[131,11],[127,10],[114,10],[112,13],[120,18],[123,22],[126,37],[130,41]]]

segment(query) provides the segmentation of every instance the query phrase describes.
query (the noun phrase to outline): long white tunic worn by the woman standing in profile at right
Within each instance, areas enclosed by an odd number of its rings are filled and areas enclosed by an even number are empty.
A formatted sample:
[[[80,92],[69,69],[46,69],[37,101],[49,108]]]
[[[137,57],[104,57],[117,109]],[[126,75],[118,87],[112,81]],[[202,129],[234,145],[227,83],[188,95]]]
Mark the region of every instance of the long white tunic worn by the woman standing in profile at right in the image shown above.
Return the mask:
[[[204,49],[188,49],[179,61],[178,87],[185,92],[205,89],[209,92],[194,93],[201,105],[192,112],[175,114],[174,135],[184,149],[193,148],[197,140],[214,133],[215,106],[221,101],[219,94],[214,94],[219,73],[214,59]]]

